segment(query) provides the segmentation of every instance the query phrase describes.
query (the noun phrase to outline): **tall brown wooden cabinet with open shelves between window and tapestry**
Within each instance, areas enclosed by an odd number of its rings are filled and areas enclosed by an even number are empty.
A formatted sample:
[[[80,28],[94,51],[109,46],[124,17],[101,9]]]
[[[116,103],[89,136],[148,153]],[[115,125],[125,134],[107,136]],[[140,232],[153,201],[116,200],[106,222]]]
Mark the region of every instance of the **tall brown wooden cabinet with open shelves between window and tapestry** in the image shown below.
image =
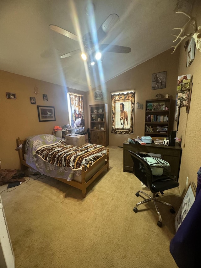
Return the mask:
[[[91,143],[107,146],[109,144],[108,105],[92,104],[89,108]]]

